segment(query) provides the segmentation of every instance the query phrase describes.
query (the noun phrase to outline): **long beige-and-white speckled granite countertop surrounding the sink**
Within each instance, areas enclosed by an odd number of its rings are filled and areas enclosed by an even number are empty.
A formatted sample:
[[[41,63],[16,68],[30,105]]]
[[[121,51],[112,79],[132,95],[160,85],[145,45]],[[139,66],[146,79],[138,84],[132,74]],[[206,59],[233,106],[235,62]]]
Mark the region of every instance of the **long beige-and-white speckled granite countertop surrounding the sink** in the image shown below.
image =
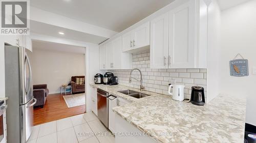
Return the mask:
[[[94,86],[133,101],[113,110],[157,142],[243,142],[245,98],[220,95],[204,106],[197,106],[145,91],[152,96],[133,99],[117,91],[137,89],[122,85]]]

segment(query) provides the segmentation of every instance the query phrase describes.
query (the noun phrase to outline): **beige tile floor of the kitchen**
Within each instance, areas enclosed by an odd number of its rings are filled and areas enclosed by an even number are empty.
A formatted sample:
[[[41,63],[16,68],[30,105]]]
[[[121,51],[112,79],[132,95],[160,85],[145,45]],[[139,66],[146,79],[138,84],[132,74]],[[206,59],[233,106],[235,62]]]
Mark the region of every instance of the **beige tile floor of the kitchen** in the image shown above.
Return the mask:
[[[115,143],[115,137],[94,113],[37,125],[27,143]]]

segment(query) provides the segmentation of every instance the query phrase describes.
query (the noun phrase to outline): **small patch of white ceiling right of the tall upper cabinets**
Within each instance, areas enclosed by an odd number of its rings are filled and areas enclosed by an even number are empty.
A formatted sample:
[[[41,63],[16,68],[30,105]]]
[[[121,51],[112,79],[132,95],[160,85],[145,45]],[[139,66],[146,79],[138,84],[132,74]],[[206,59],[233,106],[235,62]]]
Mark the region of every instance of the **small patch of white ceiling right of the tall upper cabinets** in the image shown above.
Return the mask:
[[[251,0],[217,0],[221,10],[226,10]]]

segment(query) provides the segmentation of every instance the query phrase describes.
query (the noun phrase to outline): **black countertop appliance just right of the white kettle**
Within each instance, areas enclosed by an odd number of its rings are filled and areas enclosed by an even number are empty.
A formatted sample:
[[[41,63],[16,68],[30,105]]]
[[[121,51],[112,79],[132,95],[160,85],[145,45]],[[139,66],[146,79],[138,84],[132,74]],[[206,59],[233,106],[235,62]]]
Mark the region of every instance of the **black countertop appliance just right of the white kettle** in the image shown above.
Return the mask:
[[[190,102],[195,105],[203,106],[205,104],[204,88],[193,86]]]

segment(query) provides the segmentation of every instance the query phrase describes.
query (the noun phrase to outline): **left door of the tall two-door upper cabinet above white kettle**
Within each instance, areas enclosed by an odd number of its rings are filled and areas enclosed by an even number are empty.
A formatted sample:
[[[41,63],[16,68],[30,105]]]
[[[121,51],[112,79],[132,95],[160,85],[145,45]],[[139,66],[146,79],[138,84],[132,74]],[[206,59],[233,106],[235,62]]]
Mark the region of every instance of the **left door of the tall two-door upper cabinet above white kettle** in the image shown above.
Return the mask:
[[[168,68],[168,13],[151,21],[150,68]]]

